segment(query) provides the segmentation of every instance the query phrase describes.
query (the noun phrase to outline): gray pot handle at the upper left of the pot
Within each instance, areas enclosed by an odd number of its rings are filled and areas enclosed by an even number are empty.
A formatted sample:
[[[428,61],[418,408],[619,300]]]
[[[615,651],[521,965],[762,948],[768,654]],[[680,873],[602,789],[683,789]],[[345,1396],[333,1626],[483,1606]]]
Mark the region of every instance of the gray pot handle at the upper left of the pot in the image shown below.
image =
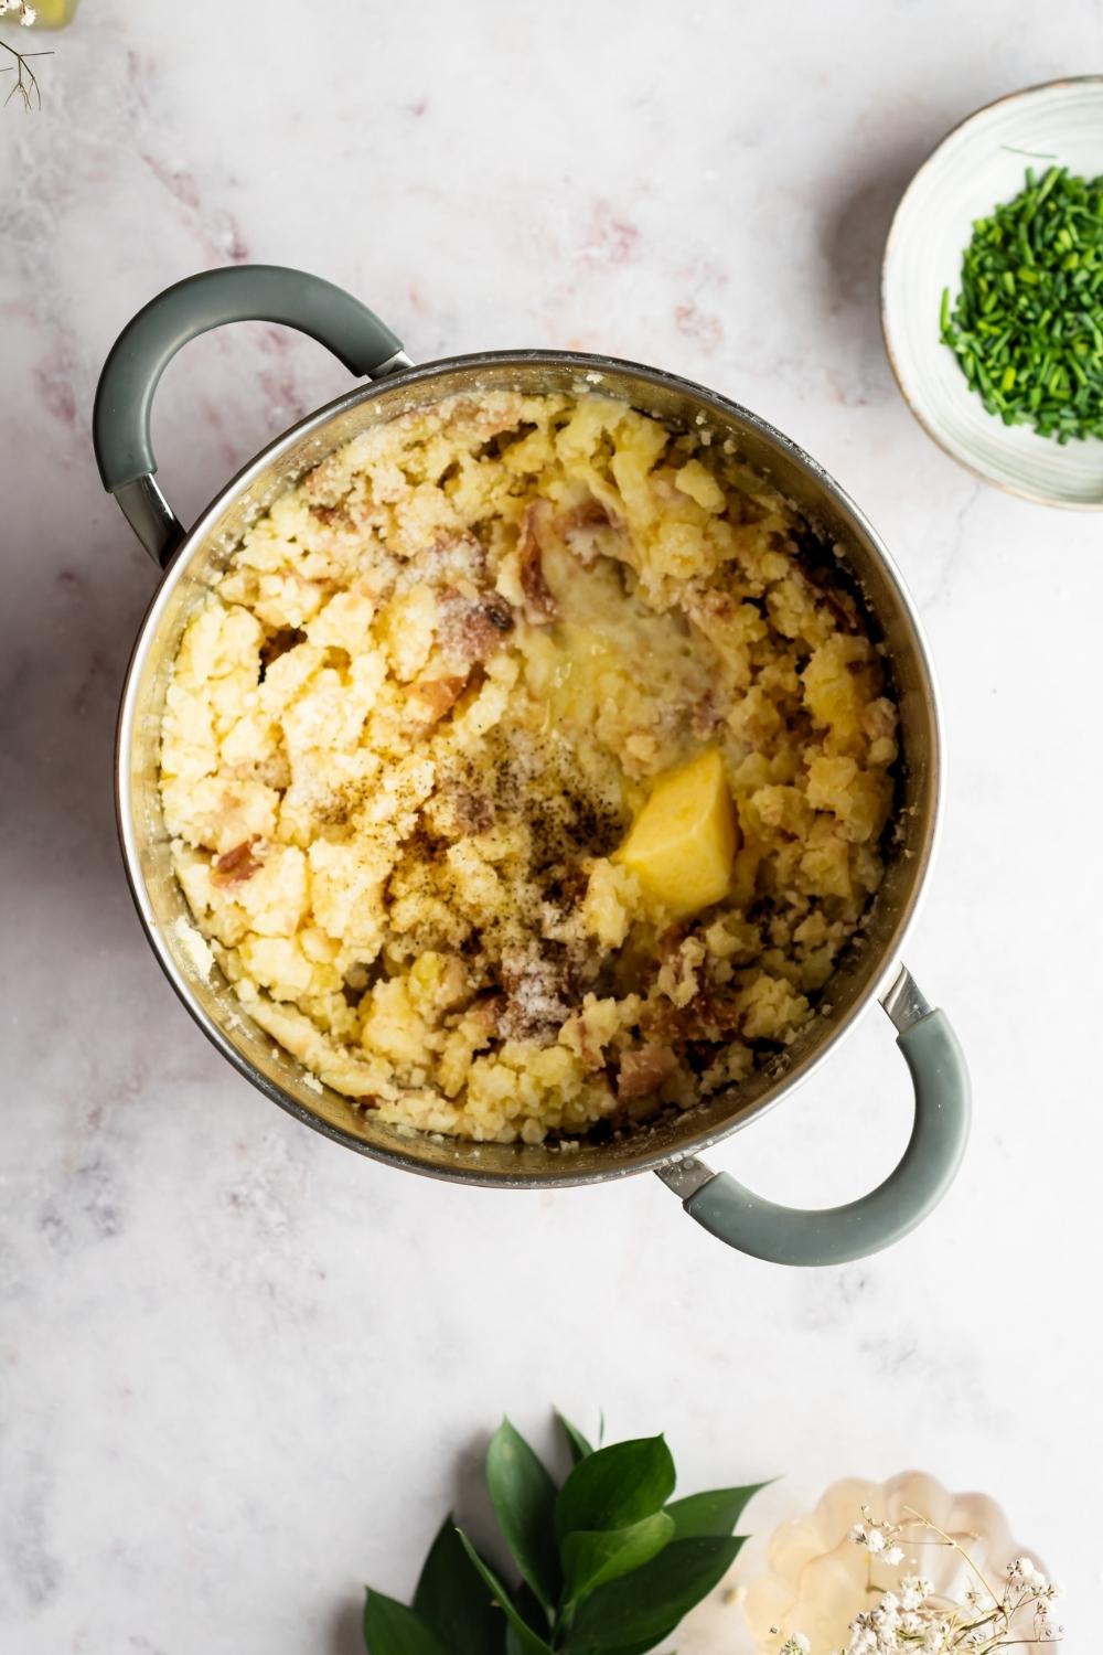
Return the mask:
[[[96,391],[93,444],[104,488],[164,568],[184,526],[154,482],[149,414],[157,381],[180,346],[228,321],[275,321],[327,346],[354,374],[408,367],[402,341],[351,293],[281,265],[232,265],[177,281],[126,324]]]

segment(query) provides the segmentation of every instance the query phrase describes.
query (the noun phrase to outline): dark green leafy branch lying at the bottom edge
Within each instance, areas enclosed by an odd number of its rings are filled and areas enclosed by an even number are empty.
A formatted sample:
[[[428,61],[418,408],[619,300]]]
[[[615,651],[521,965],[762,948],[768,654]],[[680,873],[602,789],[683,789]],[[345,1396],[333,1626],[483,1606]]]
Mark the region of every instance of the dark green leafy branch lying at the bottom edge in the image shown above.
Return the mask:
[[[369,1655],[645,1655],[731,1567],[733,1529],[762,1483],[671,1499],[661,1437],[592,1448],[561,1418],[572,1471],[559,1486],[509,1420],[486,1488],[516,1585],[448,1516],[413,1605],[369,1587]]]

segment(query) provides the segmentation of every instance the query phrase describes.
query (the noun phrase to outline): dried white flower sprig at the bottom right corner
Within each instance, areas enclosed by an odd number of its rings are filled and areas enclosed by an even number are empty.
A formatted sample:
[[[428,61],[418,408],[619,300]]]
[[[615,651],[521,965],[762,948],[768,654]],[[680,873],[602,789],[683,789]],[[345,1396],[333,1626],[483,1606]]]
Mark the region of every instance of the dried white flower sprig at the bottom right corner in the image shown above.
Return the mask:
[[[997,1590],[959,1541],[918,1511],[906,1516],[911,1519],[908,1524],[885,1523],[863,1508],[862,1523],[855,1523],[850,1539],[880,1564],[898,1567],[905,1559],[905,1546],[900,1544],[905,1529],[918,1529],[906,1544],[951,1546],[974,1584],[961,1602],[951,1602],[936,1597],[933,1582],[924,1576],[901,1576],[895,1592],[881,1590],[878,1602],[850,1622],[843,1655],[994,1655],[997,1650],[1060,1642],[1063,1627],[1053,1617],[1062,1587],[1035,1569],[1029,1557],[1015,1557],[1007,1566]],[[779,1655],[812,1655],[812,1645],[797,1632],[782,1643]]]

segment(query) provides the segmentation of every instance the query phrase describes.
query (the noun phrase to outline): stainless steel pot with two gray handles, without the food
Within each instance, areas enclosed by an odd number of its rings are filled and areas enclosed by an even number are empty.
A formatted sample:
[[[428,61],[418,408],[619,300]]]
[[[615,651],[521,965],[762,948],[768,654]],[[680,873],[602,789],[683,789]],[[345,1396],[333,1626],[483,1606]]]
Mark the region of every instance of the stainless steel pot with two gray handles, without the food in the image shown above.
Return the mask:
[[[149,412],[157,381],[182,344],[222,323],[263,319],[313,334],[357,376],[347,396],[319,409],[258,453],[189,531],[157,483]],[[609,1144],[562,1152],[410,1135],[306,1084],[303,1067],[256,1029],[222,980],[189,958],[179,920],[189,912],[172,874],[157,791],[159,730],[180,634],[243,530],[306,470],[359,432],[456,391],[498,387],[600,389],[660,419],[734,439],[747,462],[795,503],[810,530],[837,549],[858,583],[891,662],[901,712],[898,836],[860,948],[832,978],[822,1015],[779,1061],[738,1091]],[[652,1170],[686,1211],[721,1240],[759,1258],[828,1264],[873,1253],[911,1230],[941,1198],[964,1152],[969,1081],[957,1041],[898,963],[934,846],[941,751],[938,700],[914,609],[885,546],[842,488],[757,415],[673,374],[604,356],[493,351],[415,367],[399,339],[347,293],[271,265],[207,271],[152,300],[122,331],[104,366],[94,412],[104,487],[165,571],[126,679],[117,736],[117,813],[127,879],[149,942],[203,1033],[261,1092],[337,1144],[407,1172],[468,1183],[541,1188],[594,1183]],[[757,1119],[805,1081],[876,996],[898,1031],[914,1086],[914,1129],[896,1170],[858,1202],[797,1211],[766,1202],[698,1157]]]

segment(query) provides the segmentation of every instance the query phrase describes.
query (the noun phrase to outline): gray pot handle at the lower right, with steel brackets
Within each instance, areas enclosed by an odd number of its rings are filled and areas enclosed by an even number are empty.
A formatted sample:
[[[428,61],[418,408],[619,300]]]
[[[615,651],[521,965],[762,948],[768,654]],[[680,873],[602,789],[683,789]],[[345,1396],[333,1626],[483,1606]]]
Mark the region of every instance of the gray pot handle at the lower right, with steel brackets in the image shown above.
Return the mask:
[[[969,1137],[969,1071],[957,1036],[906,970],[883,1006],[914,1086],[903,1160],[870,1195],[822,1211],[777,1206],[696,1157],[663,1167],[660,1177],[683,1197],[690,1216],[728,1246],[772,1264],[847,1264],[914,1230],[953,1183]]]

